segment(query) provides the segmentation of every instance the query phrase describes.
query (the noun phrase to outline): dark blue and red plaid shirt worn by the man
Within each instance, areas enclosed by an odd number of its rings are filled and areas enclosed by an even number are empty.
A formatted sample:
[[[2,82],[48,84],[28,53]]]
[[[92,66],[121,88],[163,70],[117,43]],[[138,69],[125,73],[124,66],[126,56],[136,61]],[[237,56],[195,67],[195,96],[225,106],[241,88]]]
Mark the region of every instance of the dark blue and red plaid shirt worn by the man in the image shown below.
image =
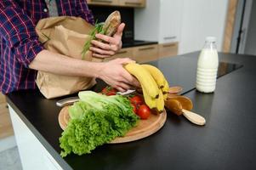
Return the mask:
[[[94,23],[86,0],[56,0],[60,16],[79,16]],[[0,91],[36,88],[37,71],[28,68],[43,50],[35,31],[48,17],[44,0],[0,0]]]

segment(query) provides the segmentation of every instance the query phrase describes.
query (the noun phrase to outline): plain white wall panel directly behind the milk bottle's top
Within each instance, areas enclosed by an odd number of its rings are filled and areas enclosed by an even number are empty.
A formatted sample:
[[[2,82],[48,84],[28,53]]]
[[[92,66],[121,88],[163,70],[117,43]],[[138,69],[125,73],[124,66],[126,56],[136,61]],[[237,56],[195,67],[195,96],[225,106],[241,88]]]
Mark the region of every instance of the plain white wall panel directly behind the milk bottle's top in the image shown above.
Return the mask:
[[[217,37],[222,49],[228,0],[185,0],[179,54],[200,50],[207,36]]]

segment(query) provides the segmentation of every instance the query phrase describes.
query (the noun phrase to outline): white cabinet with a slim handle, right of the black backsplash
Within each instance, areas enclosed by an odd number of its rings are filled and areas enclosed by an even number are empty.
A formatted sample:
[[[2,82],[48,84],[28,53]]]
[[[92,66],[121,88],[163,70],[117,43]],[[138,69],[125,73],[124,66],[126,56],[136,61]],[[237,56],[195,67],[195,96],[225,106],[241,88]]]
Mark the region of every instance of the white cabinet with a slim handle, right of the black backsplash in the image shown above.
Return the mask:
[[[135,9],[135,39],[159,43],[179,42],[183,0],[147,0]]]

